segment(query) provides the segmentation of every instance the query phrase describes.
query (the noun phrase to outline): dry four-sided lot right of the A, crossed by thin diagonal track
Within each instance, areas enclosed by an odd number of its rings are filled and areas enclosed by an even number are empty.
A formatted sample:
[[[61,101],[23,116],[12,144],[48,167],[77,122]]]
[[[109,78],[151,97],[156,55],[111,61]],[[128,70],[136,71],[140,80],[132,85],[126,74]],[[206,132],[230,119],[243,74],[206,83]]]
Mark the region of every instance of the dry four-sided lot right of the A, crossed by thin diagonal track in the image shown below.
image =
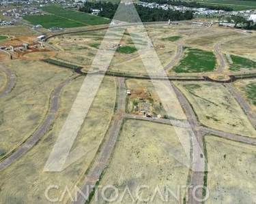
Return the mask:
[[[256,137],[255,129],[238,102],[221,84],[210,82],[178,83],[200,122],[213,129]]]

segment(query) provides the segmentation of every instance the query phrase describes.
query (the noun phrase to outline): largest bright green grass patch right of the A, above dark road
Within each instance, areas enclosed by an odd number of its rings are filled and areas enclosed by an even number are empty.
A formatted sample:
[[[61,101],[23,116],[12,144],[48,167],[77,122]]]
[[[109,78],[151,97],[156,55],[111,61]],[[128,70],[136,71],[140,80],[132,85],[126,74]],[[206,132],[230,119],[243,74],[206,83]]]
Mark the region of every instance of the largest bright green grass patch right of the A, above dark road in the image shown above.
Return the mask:
[[[176,73],[213,71],[216,67],[216,56],[213,52],[188,47],[184,50],[186,52],[184,58],[173,69]]]

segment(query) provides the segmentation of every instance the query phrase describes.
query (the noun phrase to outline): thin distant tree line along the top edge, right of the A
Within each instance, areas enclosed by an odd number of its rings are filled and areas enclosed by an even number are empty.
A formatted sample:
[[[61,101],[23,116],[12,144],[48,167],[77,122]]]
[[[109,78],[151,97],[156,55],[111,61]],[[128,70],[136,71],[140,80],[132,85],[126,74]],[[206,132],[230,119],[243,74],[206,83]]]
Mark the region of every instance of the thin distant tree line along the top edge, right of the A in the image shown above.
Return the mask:
[[[186,7],[205,7],[208,8],[210,10],[223,10],[226,12],[231,12],[233,11],[233,8],[231,7],[226,7],[226,6],[221,6],[221,5],[203,5],[200,3],[197,3],[195,1],[173,1],[173,0],[142,0],[143,2],[147,2],[147,3],[159,3],[159,4],[169,4],[169,5],[184,5]],[[255,0],[256,1],[256,0]]]

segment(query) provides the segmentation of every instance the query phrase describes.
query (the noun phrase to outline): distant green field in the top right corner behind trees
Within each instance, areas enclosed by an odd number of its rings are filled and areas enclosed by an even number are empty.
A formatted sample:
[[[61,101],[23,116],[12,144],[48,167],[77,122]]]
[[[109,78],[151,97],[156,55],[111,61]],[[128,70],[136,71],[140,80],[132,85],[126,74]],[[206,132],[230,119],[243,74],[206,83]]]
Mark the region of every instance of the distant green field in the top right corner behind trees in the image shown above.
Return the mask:
[[[236,0],[199,0],[198,3],[203,5],[220,5],[232,7],[235,11],[251,10],[256,8],[256,1],[236,1]]]

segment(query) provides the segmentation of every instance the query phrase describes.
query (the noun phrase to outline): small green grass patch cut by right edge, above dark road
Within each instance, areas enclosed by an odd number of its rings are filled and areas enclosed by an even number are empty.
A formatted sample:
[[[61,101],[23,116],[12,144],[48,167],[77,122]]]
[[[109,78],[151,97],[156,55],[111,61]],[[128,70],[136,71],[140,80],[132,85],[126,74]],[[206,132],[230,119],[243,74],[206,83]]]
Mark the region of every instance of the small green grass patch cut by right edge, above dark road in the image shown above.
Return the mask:
[[[256,69],[256,62],[251,61],[248,58],[232,54],[230,55],[230,58],[232,60],[232,62],[229,63],[229,69],[231,71],[241,71],[242,69]]]

